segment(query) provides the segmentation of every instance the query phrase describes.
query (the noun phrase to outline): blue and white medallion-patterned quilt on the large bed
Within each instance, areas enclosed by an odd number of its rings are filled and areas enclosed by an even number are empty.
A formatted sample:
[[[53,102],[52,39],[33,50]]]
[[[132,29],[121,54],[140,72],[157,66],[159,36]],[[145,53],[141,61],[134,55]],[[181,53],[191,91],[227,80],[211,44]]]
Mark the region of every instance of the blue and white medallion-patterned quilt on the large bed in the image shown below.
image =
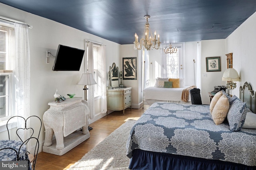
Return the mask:
[[[256,129],[230,131],[215,125],[209,106],[157,102],[138,119],[126,144],[127,156],[141,149],[256,166]]]

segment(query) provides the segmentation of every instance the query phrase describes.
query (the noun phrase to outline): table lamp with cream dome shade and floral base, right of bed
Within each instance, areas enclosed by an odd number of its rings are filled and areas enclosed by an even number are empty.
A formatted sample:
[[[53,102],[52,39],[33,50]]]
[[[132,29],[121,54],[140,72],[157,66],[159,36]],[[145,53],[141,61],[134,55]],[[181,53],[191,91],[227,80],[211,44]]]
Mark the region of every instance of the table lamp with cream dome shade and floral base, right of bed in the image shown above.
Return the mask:
[[[222,76],[222,81],[228,81],[226,84],[226,87],[230,90],[230,95],[232,96],[232,89],[236,88],[236,83],[234,81],[239,81],[239,75],[238,72],[234,68],[228,68],[226,71],[224,71]]]

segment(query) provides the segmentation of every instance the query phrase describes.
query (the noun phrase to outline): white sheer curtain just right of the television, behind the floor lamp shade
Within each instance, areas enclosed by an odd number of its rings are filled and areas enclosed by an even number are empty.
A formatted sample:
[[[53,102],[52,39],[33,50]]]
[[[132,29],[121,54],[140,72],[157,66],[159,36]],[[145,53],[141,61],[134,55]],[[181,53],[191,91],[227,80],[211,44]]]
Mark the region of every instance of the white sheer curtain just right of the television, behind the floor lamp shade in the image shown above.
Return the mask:
[[[94,61],[93,61],[93,43],[89,41],[88,43],[88,73],[94,74]],[[90,109],[90,119],[94,119],[95,109],[94,109],[94,85],[88,85],[88,103]]]

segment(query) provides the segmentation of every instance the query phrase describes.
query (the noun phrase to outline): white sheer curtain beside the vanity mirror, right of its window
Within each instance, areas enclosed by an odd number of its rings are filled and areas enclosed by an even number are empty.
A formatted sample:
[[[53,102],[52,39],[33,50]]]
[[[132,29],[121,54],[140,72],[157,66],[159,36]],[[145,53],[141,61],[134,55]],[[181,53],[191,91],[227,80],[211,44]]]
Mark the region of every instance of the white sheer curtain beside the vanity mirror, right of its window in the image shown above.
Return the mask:
[[[101,89],[101,106],[100,106],[100,113],[107,112],[107,95],[106,95],[106,82],[107,82],[107,73],[106,73],[106,45],[101,45],[101,56],[99,65],[99,73],[100,73],[100,89]]]

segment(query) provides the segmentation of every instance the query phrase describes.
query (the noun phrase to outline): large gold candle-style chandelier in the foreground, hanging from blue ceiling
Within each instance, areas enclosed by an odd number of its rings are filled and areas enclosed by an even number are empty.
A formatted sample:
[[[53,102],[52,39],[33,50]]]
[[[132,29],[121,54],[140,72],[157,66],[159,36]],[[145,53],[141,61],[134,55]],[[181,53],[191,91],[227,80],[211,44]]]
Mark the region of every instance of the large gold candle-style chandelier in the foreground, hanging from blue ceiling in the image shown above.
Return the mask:
[[[155,36],[153,36],[150,25],[148,23],[148,18],[150,16],[144,16],[144,18],[147,20],[144,28],[144,32],[142,35],[142,39],[140,39],[140,42],[138,42],[138,35],[135,33],[135,41],[134,41],[134,49],[142,49],[145,48],[147,50],[150,49],[159,49],[161,42],[159,41],[159,34],[158,34],[158,40],[156,39],[156,31],[155,31]]]

